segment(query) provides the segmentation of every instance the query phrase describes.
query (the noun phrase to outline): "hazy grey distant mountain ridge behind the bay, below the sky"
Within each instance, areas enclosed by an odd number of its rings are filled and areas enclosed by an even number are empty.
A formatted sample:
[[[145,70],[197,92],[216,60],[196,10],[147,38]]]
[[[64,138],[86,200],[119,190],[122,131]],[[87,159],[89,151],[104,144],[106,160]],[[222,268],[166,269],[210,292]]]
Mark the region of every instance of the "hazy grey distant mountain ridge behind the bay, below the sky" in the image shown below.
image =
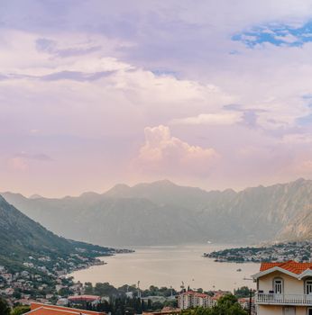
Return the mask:
[[[305,179],[238,193],[164,180],[61,199],[3,195],[64,237],[110,246],[312,238],[312,181]]]

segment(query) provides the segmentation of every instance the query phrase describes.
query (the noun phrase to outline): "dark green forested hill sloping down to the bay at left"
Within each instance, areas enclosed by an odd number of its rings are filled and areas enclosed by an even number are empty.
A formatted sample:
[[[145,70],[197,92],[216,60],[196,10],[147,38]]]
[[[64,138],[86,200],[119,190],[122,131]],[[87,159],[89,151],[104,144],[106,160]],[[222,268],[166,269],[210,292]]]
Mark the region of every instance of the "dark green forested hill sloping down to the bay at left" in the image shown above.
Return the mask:
[[[76,256],[92,258],[114,252],[114,248],[60,238],[0,196],[0,266],[19,270],[23,263],[32,263],[39,258],[41,266],[53,266],[69,259],[74,264]]]

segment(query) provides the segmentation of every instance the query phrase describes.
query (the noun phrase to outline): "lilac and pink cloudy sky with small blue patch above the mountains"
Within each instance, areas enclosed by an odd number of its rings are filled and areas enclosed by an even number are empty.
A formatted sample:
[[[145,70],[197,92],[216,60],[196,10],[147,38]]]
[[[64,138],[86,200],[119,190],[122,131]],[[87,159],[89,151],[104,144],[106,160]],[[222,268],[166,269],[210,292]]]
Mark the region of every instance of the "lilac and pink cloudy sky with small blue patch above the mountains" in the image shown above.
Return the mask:
[[[3,0],[0,191],[312,178],[309,0]]]

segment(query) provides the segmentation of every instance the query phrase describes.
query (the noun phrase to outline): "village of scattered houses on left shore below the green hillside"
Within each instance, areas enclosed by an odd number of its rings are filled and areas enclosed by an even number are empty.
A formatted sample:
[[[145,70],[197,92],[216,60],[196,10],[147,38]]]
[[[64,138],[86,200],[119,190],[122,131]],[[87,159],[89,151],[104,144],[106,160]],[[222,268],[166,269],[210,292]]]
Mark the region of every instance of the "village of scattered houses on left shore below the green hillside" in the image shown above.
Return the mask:
[[[48,256],[28,257],[23,267],[9,270],[0,266],[0,296],[11,304],[30,304],[32,301],[56,303],[62,296],[83,293],[83,285],[75,284],[68,275],[90,266],[105,265],[106,262],[96,257],[87,257],[83,248],[81,252],[69,254],[68,258]],[[128,249],[115,249],[114,253],[133,252]],[[115,254],[110,254],[115,255]]]

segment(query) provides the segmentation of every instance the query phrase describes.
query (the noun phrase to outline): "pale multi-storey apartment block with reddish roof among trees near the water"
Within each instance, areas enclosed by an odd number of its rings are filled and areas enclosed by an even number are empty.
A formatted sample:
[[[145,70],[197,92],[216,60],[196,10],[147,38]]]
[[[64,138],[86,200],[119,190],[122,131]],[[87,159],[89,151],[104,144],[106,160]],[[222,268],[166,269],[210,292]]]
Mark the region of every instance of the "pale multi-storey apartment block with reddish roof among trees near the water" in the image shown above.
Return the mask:
[[[188,291],[178,295],[178,307],[181,310],[187,310],[193,307],[213,307],[216,300],[212,299],[208,294]]]

